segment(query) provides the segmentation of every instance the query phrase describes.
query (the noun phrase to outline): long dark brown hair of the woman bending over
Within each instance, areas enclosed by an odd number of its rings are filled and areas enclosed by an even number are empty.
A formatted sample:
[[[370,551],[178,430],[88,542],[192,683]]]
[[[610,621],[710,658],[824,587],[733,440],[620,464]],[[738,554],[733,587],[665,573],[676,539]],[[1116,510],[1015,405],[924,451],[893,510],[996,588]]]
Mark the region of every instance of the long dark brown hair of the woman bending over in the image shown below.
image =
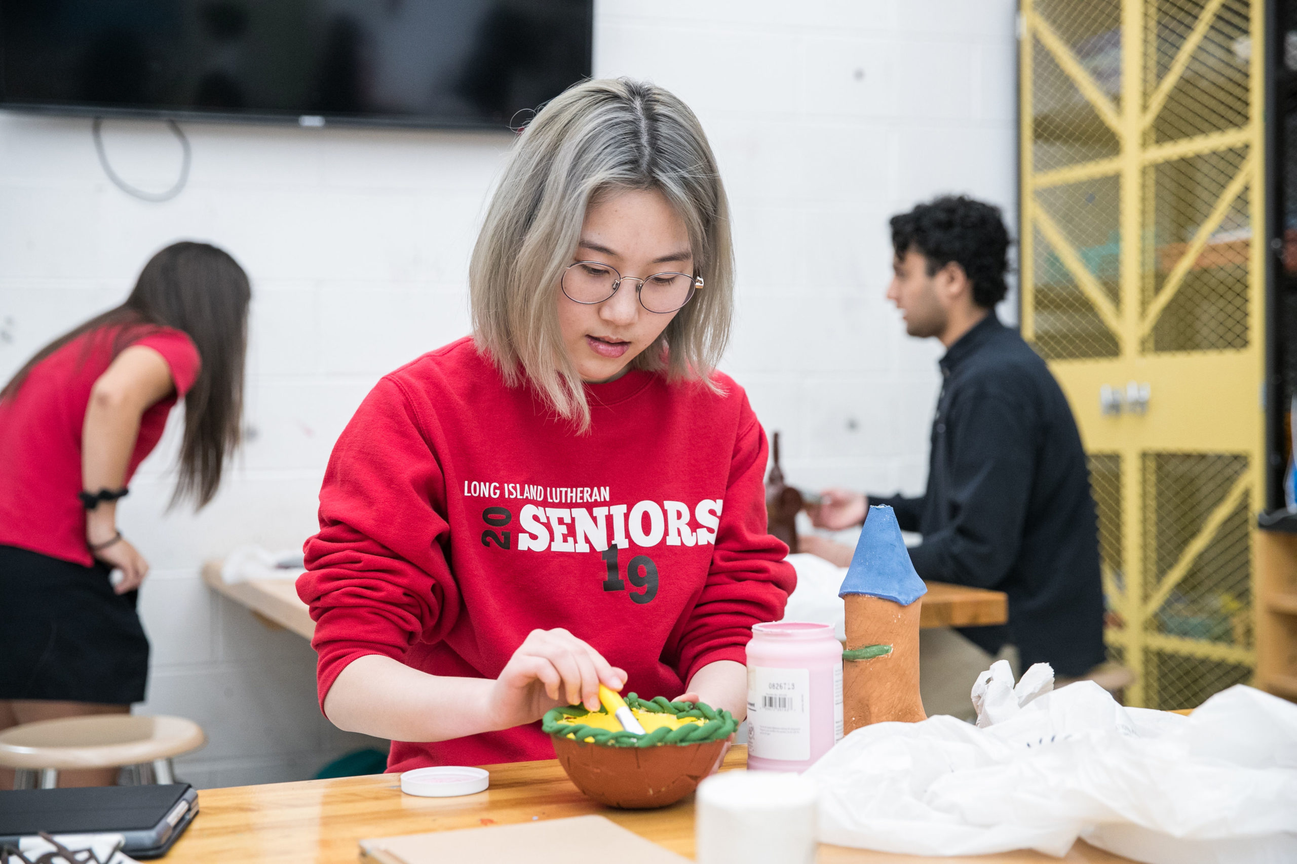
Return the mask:
[[[239,446],[250,299],[248,275],[228,253],[208,244],[173,244],[149,259],[125,303],[38,351],[0,390],[0,400],[17,395],[36,364],[87,333],[117,326],[115,358],[141,329],[184,332],[202,367],[184,396],[180,475],[171,503],[192,497],[202,508],[217,494],[220,469]]]

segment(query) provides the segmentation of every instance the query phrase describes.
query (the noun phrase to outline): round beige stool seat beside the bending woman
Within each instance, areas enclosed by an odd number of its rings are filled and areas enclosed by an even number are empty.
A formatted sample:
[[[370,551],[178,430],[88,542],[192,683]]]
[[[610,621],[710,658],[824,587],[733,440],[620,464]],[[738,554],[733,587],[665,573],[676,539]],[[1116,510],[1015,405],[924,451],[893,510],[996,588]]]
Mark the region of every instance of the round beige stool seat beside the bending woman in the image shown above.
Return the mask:
[[[0,766],[25,771],[115,768],[170,759],[208,742],[193,720],[97,714],[0,732]]]

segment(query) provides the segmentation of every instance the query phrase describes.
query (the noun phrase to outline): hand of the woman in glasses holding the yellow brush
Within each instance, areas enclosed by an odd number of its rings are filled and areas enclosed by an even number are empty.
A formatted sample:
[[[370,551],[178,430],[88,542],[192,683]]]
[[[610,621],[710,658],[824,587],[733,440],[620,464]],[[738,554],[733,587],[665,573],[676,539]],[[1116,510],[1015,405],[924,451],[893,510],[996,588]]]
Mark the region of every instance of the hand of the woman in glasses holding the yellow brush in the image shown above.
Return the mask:
[[[621,690],[624,670],[562,627],[533,630],[490,689],[492,725],[507,729],[540,720],[559,705],[599,710],[599,684]]]

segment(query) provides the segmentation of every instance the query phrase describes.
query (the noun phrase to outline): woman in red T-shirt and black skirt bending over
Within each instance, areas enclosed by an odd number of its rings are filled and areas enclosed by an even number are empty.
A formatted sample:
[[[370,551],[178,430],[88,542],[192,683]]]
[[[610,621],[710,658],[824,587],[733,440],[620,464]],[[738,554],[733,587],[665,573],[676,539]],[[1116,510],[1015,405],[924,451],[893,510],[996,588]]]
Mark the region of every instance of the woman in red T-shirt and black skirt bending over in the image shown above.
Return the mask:
[[[118,500],[180,399],[173,501],[201,508],[217,494],[239,442],[249,297],[226,253],[167,246],[125,303],[38,351],[0,390],[0,729],[144,701],[149,642],[135,604],[149,565],[117,529]]]

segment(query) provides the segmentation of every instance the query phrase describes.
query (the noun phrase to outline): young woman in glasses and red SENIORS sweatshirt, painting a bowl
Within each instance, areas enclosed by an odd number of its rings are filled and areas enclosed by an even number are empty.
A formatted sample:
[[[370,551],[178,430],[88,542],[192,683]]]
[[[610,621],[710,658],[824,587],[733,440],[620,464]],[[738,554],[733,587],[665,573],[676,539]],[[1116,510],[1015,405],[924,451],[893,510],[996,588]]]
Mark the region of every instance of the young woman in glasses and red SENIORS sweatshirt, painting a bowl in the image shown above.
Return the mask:
[[[715,372],[725,192],[678,98],[578,84],[519,136],[473,250],[475,333],[383,378],[306,543],[319,698],[389,771],[551,758],[601,683],[746,714],[795,575],[767,446]]]

